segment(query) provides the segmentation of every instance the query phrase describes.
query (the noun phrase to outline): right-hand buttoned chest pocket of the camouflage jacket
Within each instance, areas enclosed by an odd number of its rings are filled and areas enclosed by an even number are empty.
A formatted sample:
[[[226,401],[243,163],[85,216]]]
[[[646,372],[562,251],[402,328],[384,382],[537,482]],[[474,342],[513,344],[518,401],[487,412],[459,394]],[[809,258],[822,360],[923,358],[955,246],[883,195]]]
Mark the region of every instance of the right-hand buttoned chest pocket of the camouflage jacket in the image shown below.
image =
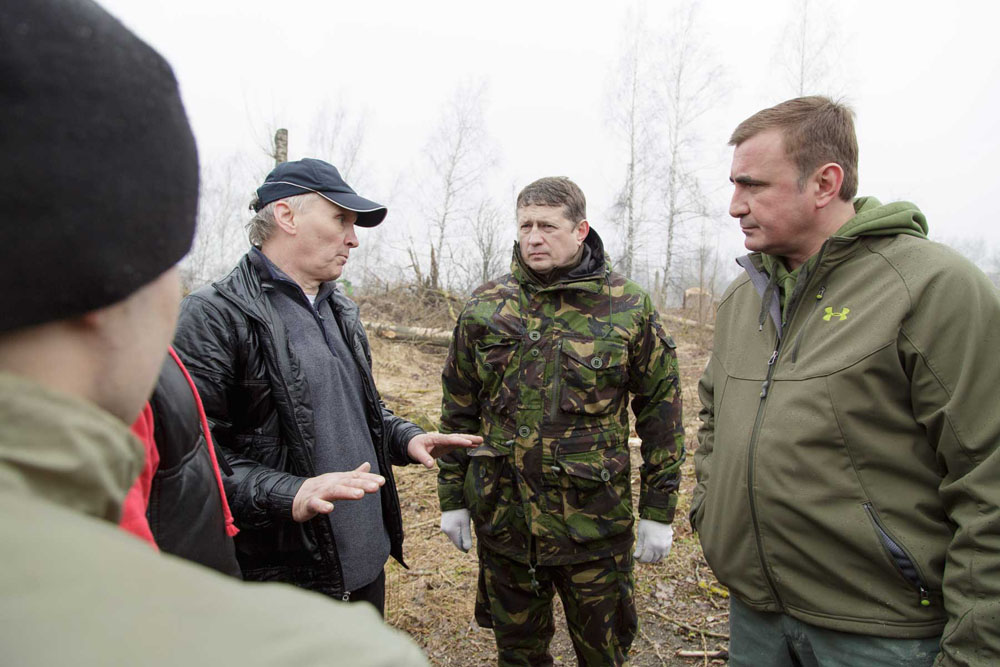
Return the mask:
[[[603,415],[618,408],[628,385],[628,349],[616,340],[565,338],[560,347],[559,409]]]

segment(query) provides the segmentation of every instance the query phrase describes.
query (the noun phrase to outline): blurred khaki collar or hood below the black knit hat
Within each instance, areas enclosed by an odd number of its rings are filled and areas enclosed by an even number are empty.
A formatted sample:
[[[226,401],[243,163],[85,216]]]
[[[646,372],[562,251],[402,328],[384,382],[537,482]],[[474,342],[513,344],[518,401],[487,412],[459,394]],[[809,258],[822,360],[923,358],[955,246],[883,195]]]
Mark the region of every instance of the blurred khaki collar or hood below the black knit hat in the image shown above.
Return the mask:
[[[143,459],[142,443],[115,416],[0,373],[0,486],[117,523]]]

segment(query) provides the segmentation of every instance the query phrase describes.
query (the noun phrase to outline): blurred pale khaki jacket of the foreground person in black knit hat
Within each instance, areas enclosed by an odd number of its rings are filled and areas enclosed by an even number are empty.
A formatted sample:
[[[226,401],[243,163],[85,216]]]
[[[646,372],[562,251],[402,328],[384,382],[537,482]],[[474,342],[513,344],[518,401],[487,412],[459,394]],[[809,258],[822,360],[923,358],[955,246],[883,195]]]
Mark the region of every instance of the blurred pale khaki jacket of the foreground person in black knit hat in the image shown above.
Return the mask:
[[[425,665],[367,605],[250,585],[116,525],[128,427],[0,373],[0,646],[11,665]]]

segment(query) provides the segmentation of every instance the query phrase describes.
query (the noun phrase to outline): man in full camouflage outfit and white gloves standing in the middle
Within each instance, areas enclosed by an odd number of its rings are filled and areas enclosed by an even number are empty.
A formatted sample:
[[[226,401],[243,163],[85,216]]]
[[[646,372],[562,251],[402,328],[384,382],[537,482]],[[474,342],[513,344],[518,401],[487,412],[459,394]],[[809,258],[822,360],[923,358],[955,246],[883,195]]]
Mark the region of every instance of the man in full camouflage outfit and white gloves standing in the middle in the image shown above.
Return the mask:
[[[439,459],[441,528],[476,527],[476,620],[501,665],[552,664],[552,596],[583,665],[623,664],[638,626],[633,558],[670,550],[684,458],[674,342],[649,295],[613,273],[583,193],[543,178],[517,199],[511,273],[459,317],[441,431],[481,434]],[[633,545],[628,397],[642,439]]]

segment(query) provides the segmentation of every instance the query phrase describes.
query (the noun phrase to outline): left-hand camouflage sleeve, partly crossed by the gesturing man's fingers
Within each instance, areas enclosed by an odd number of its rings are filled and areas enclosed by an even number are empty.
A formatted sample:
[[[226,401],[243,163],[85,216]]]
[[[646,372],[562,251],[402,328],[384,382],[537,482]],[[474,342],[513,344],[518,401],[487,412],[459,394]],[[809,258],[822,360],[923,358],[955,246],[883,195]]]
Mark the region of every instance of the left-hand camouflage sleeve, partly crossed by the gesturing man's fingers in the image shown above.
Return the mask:
[[[441,433],[479,433],[479,381],[475,354],[460,317],[441,372]],[[467,450],[458,448],[438,459],[438,500],[441,511],[462,509],[462,487],[469,467]]]

